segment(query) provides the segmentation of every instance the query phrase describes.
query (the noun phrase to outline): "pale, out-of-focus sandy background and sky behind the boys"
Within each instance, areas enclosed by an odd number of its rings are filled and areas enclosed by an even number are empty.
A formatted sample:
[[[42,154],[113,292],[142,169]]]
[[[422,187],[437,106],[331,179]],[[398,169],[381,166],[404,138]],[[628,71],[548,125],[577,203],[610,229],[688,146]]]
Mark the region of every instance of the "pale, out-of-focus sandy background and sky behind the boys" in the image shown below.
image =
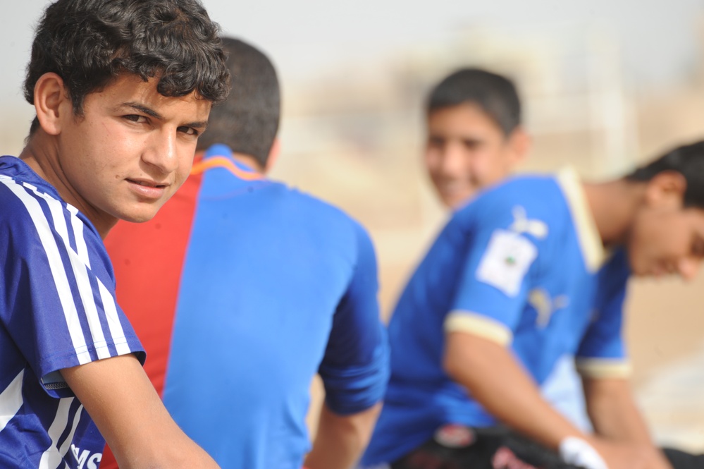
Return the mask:
[[[34,116],[20,92],[45,0],[0,18],[0,152]],[[534,146],[521,171],[627,171],[704,138],[703,0],[204,0],[260,47],[283,87],[272,176],[342,207],[376,243],[381,304],[447,214],[421,166],[424,97],[461,66],[515,80]],[[704,276],[632,281],[634,389],[657,441],[704,451]]]

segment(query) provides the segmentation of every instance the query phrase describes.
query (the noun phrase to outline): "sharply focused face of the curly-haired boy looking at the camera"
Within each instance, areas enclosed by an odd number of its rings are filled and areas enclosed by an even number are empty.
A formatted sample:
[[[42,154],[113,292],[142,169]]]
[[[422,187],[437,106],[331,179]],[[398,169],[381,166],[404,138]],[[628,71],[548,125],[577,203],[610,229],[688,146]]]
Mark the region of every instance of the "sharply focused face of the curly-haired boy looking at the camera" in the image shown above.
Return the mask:
[[[155,79],[125,74],[87,95],[82,116],[64,107],[57,138],[64,198],[109,227],[151,219],[185,181],[211,103],[164,97]]]

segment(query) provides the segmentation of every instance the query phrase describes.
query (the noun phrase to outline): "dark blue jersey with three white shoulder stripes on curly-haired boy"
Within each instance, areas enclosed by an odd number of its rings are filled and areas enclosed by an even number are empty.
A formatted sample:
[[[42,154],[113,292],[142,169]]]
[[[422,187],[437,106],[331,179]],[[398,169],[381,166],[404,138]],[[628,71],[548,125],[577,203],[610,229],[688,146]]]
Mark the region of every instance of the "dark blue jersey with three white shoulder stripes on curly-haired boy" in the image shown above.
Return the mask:
[[[139,352],[90,221],[0,157],[0,467],[95,469],[104,439],[59,370]]]

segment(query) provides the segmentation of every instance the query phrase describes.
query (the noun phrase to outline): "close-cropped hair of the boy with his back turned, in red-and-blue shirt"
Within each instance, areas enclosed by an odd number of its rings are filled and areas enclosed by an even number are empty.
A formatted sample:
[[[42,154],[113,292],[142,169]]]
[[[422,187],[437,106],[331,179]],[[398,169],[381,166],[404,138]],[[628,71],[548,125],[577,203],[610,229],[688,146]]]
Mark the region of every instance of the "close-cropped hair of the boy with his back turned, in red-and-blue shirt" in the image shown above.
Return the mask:
[[[259,49],[240,39],[223,37],[232,90],[214,106],[208,128],[198,139],[199,150],[216,143],[254,157],[262,167],[278,132],[280,90],[276,70]]]

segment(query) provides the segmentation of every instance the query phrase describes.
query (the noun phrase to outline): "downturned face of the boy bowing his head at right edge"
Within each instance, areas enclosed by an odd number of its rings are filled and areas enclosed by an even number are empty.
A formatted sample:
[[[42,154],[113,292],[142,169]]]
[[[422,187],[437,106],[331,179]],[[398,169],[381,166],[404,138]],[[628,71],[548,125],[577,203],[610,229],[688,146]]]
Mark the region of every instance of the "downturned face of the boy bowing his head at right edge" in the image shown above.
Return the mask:
[[[679,274],[693,279],[704,260],[704,210],[682,208],[681,195],[650,200],[636,213],[627,249],[636,276]]]

